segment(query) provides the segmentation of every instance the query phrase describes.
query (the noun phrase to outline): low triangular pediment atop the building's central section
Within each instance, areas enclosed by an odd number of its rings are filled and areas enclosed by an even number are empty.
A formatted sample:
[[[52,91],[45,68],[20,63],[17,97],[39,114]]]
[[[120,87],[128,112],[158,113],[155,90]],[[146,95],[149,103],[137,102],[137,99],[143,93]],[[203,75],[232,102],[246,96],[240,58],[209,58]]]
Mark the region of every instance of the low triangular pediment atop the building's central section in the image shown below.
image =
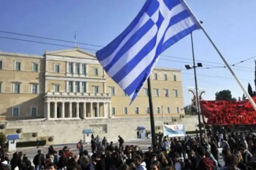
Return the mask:
[[[60,51],[49,51],[45,52],[46,55],[62,56],[62,57],[74,57],[74,58],[86,58],[97,60],[94,54],[83,51],[80,48],[74,48],[69,50],[60,50]]]

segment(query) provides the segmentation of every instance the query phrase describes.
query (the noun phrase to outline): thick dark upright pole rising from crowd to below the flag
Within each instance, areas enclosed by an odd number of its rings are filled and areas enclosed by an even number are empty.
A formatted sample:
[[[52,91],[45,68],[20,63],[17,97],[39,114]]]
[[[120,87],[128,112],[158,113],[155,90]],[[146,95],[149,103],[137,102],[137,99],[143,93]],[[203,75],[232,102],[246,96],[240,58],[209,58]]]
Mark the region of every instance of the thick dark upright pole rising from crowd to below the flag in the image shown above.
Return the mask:
[[[150,77],[147,78],[147,90],[148,90],[148,103],[149,103],[149,107],[150,107],[150,125],[151,125],[152,146],[155,151],[155,149],[156,149],[156,131],[155,131],[154,108],[153,108],[153,101],[152,101]]]

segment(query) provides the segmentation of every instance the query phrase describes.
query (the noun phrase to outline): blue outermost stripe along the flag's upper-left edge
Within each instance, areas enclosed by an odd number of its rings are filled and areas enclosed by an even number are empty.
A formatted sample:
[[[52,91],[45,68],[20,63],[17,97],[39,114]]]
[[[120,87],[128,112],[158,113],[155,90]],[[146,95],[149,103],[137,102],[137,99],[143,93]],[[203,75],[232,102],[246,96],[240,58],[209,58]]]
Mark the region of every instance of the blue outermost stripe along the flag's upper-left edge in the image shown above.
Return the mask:
[[[112,54],[115,49],[121,44],[124,38],[129,35],[133,29],[136,28],[137,24],[144,19],[145,10],[151,5],[151,0],[147,0],[139,14],[133,19],[133,21],[129,24],[129,26],[118,36],[116,37],[112,43],[109,43],[106,47],[102,48],[101,50],[97,51],[96,56],[99,61],[103,60],[105,57],[108,57]],[[148,16],[148,15],[147,15]]]

